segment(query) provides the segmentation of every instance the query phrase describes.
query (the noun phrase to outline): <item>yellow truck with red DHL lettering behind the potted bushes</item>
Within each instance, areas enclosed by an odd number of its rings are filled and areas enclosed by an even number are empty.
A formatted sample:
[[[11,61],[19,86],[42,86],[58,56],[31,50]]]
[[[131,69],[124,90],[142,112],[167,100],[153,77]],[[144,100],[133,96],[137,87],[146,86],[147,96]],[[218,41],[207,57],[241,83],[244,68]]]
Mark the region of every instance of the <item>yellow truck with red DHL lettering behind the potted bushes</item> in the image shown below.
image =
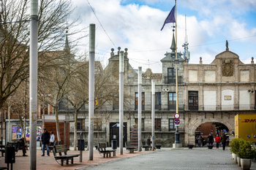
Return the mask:
[[[256,114],[235,116],[235,138],[256,142]]]

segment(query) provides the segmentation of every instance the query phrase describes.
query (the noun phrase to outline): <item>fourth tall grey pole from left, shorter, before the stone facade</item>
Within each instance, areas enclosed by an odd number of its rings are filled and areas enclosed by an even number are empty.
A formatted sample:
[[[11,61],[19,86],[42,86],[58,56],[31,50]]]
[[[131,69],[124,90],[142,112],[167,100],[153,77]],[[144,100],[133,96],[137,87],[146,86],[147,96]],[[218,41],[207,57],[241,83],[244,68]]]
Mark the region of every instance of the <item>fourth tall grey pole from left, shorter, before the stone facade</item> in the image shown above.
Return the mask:
[[[141,84],[142,84],[142,74],[141,66],[139,66],[138,72],[138,149],[141,151],[141,107],[142,107],[142,95],[141,95]]]

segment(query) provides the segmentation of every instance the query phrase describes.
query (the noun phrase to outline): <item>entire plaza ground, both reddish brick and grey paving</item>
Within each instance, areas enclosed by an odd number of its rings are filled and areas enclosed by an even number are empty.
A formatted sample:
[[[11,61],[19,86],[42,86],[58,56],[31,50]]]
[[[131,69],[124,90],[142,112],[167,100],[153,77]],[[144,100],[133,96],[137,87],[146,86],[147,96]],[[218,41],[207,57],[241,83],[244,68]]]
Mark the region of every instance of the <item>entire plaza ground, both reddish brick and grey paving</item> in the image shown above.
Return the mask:
[[[38,148],[39,149],[39,148]],[[68,151],[69,154],[79,154],[79,151]],[[29,155],[29,152],[27,153]],[[124,148],[124,155],[119,155],[117,150],[116,156],[111,158],[102,158],[97,150],[94,150],[94,160],[89,161],[88,151],[83,151],[83,162],[79,162],[79,157],[74,158],[74,164],[60,166],[53,158],[53,152],[50,152],[50,157],[41,157],[42,151],[37,150],[37,169],[195,169],[195,170],[241,170],[233,161],[233,158],[228,150],[208,150],[207,147],[194,147],[192,150],[187,148],[173,150],[171,148],[161,148],[156,151],[144,151],[129,153]],[[0,157],[0,167],[7,166],[4,163],[4,157]],[[29,156],[23,157],[21,150],[18,151],[15,157],[13,169],[25,170],[29,169]],[[256,163],[252,162],[252,170],[256,170]]]

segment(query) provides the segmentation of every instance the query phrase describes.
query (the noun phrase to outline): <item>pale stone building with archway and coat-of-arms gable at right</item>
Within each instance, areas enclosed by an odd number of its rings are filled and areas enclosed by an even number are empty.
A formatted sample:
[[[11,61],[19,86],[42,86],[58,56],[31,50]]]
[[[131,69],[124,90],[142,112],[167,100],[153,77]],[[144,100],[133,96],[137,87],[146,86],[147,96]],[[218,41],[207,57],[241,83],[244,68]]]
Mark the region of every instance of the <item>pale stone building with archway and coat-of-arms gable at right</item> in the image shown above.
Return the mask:
[[[255,113],[255,71],[253,58],[244,64],[228,47],[210,64],[184,63],[185,144],[195,143],[203,123],[222,123],[231,134],[237,114]]]

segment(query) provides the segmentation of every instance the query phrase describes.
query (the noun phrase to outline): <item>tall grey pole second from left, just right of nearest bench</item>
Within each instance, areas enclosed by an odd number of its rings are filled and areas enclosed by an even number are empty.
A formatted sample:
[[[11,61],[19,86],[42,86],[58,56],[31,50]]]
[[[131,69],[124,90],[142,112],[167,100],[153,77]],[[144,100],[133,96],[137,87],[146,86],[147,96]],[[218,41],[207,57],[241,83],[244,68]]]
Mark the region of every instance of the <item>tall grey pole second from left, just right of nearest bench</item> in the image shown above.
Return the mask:
[[[95,24],[89,28],[89,161],[94,159],[94,66]]]

